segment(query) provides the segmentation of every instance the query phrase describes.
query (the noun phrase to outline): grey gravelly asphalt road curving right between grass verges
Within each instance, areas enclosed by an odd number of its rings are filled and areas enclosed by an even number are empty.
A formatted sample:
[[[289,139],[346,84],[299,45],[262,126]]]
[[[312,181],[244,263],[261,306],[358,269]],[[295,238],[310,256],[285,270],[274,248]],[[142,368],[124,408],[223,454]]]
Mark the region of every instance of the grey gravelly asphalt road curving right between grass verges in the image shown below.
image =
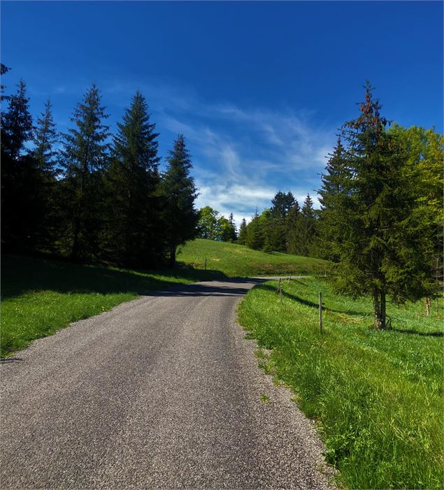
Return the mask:
[[[331,487],[313,421],[236,323],[258,282],[157,291],[2,363],[0,488]]]

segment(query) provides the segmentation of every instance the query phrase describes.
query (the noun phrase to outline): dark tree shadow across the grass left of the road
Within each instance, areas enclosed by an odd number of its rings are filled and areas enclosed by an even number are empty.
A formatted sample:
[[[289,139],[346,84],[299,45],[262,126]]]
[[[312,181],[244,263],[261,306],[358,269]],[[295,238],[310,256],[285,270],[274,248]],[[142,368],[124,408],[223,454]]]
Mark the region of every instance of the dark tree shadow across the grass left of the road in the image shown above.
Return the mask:
[[[52,259],[3,255],[1,257],[1,298],[21,296],[27,291],[48,290],[80,294],[128,292],[149,294],[155,289],[166,287],[165,280],[143,275],[145,273],[193,282],[226,278],[220,271],[198,271],[187,267],[134,273],[119,269],[82,266]]]

